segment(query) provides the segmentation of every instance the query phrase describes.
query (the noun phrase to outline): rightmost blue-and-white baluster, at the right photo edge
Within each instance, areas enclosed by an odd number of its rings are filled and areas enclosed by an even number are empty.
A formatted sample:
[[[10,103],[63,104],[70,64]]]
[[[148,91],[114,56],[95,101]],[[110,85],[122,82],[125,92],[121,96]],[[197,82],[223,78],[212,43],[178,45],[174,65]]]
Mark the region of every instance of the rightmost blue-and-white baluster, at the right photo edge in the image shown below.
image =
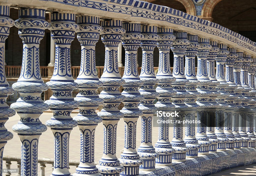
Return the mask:
[[[251,109],[248,112],[248,121],[247,121],[247,134],[248,137],[251,138],[249,141],[248,147],[255,147],[256,137],[253,133],[253,122],[255,118],[255,105],[256,105],[256,88],[255,88],[255,73],[256,73],[256,58],[252,58],[252,62],[250,67],[248,68],[248,84],[251,87],[252,91],[249,92],[249,96],[252,98],[251,101],[248,102],[249,107]]]

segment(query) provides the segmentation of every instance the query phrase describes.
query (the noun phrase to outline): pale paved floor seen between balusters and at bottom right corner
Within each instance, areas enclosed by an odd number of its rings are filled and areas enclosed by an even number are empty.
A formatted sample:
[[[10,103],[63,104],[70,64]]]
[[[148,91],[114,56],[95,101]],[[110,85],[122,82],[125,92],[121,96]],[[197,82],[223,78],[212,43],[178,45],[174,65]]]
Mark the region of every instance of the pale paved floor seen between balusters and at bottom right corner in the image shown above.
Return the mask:
[[[77,110],[75,112],[78,112]],[[44,112],[40,116],[40,120],[43,124],[45,124],[46,120],[52,117],[52,113]],[[71,113],[71,116],[76,116],[77,113]],[[10,117],[7,123],[5,124],[6,128],[9,131],[12,131],[12,126],[19,121],[19,115],[15,115]],[[153,145],[157,141],[158,136],[158,128],[153,127],[152,133],[152,143]],[[172,128],[170,131],[170,139],[172,139]],[[13,132],[13,131],[12,131]],[[20,157],[20,139],[17,133],[14,133],[14,137],[12,140],[9,140],[5,145],[4,149],[4,156],[13,156],[13,157]],[[137,147],[140,146],[140,136],[141,136],[141,119],[138,119],[137,122],[137,133],[136,133],[136,145]],[[42,133],[39,139],[38,145],[38,157],[39,158],[53,158],[54,150],[54,139],[53,134],[50,128],[47,129],[46,132]],[[124,120],[120,119],[117,128],[117,146],[116,146],[116,155],[120,158],[121,150],[124,147]],[[95,162],[101,159],[103,153],[103,125],[100,123],[96,128],[95,132]],[[70,134],[70,146],[69,146],[69,159],[70,160],[77,160],[79,161],[80,158],[80,131],[78,127],[73,128]],[[11,169],[17,168],[16,162],[13,162],[11,165]],[[6,168],[5,163],[3,168]],[[75,172],[76,167],[70,166],[71,174]],[[38,171],[40,172],[40,168],[38,167]],[[46,164],[45,168],[45,175],[50,175],[52,172],[51,164]],[[16,175],[15,173],[12,175]],[[212,176],[242,176],[242,175],[256,175],[256,164],[250,166],[244,166],[239,168],[229,169],[220,173],[213,174]]]

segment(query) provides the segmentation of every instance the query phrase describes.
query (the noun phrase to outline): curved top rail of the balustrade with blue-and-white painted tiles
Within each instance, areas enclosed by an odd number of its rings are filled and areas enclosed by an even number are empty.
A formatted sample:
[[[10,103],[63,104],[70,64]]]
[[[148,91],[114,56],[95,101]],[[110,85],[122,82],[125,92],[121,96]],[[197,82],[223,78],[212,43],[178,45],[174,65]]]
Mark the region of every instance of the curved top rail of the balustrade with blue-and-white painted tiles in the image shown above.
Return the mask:
[[[116,18],[144,24],[170,27],[178,31],[218,40],[256,55],[256,44],[248,38],[219,24],[186,14],[179,10],[139,0],[0,0],[1,3],[24,7],[42,7],[101,18]]]

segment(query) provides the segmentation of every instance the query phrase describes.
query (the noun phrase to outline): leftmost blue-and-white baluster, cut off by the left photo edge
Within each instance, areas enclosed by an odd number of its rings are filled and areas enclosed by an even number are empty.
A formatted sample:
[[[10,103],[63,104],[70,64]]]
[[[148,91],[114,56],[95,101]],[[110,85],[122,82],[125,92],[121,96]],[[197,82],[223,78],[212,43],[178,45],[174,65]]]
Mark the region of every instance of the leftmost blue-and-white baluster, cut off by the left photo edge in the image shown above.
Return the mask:
[[[5,60],[5,40],[9,35],[10,27],[14,25],[13,19],[9,18],[10,16],[10,6],[9,5],[0,5],[0,27],[2,32],[0,33],[0,176],[2,176],[3,169],[3,151],[4,146],[7,143],[7,140],[13,138],[13,134],[5,128],[5,123],[9,117],[15,115],[15,111],[6,103],[6,98],[8,95],[12,95],[13,88],[9,87],[9,83],[6,80],[5,69],[4,69],[4,60]]]

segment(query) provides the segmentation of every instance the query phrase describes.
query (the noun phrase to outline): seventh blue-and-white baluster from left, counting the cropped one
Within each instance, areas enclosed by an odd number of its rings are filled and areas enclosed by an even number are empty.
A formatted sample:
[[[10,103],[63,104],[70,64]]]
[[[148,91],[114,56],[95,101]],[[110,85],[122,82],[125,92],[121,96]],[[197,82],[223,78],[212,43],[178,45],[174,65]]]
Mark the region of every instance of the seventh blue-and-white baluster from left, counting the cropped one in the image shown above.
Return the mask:
[[[151,170],[155,169],[155,158],[158,153],[152,145],[152,119],[157,107],[154,106],[154,100],[160,94],[154,89],[154,85],[159,82],[156,79],[153,67],[153,51],[156,46],[156,41],[159,39],[157,36],[157,26],[142,26],[142,34],[144,39],[141,40],[142,48],[142,67],[140,79],[143,85],[139,89],[141,95],[145,99],[141,101],[139,109],[142,110],[141,115],[141,145],[138,148],[138,153],[144,161],[140,165],[140,169]]]

